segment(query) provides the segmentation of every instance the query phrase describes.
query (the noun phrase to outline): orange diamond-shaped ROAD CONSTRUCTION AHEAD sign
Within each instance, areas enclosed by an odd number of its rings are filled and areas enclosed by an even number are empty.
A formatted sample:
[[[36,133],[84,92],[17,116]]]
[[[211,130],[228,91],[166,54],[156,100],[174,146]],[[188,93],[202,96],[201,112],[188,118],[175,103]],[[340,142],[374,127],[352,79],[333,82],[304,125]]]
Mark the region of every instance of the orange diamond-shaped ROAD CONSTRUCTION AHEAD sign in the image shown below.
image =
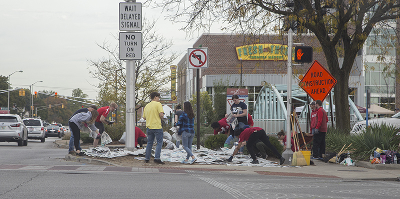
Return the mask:
[[[336,79],[314,61],[298,85],[313,99],[323,101],[336,84]]]

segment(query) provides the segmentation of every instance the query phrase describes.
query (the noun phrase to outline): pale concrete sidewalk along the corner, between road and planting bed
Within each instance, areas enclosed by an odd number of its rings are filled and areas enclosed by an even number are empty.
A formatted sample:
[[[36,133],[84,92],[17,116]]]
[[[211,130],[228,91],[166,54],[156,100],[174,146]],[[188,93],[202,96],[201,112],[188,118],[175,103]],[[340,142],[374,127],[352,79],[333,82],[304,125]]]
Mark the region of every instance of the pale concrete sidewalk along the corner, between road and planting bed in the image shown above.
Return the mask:
[[[66,141],[67,143],[68,141]],[[68,148],[65,140],[55,141],[59,148]],[[82,146],[82,148],[91,146]],[[107,145],[107,147],[123,148],[124,145]],[[65,160],[76,161],[94,165],[119,166],[107,161],[91,159],[90,157],[77,157],[66,155]],[[152,167],[154,168],[154,167]],[[159,166],[157,168],[164,168]],[[165,167],[170,170],[200,170],[200,171],[220,171],[240,174],[254,175],[274,175],[274,176],[292,176],[309,178],[332,178],[343,180],[378,180],[378,181],[398,181],[400,179],[400,164],[372,165],[368,162],[356,162],[356,166],[343,166],[339,164],[324,163],[323,161],[314,161],[314,166],[304,166],[300,168],[293,167],[245,167],[245,166],[226,166],[226,165],[179,165],[176,167]]]

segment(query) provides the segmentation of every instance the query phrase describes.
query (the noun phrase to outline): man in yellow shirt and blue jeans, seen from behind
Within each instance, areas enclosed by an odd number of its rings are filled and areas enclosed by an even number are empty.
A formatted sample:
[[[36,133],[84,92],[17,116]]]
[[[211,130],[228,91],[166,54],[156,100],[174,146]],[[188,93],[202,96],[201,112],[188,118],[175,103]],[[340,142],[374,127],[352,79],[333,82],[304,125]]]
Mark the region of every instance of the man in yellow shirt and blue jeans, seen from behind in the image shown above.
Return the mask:
[[[145,163],[150,161],[151,148],[154,143],[154,137],[157,140],[157,146],[155,147],[154,163],[163,165],[161,162],[161,147],[162,147],[162,127],[161,120],[164,118],[164,110],[162,109],[161,103],[159,102],[159,93],[150,93],[151,102],[148,103],[143,110],[143,119],[146,120],[146,133],[147,133],[147,146],[146,156],[144,159]]]

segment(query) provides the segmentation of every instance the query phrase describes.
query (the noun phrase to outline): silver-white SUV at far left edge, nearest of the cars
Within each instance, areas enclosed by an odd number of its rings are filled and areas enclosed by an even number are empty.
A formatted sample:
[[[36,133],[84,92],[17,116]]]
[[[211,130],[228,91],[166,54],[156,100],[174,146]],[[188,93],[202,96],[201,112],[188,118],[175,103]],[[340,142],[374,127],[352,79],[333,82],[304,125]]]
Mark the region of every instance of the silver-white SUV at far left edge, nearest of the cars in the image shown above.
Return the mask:
[[[0,142],[17,142],[20,147],[28,145],[28,129],[19,115],[0,115]]]

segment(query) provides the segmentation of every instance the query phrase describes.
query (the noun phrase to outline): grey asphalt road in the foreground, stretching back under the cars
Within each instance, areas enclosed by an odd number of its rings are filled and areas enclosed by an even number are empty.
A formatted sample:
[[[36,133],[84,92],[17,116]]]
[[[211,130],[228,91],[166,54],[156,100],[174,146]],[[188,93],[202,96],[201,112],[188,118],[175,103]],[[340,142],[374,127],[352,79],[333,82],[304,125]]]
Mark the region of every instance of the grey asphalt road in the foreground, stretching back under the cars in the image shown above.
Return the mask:
[[[52,140],[29,141],[26,147],[0,143],[0,167],[22,165],[19,169],[0,170],[0,199],[398,199],[400,196],[399,182],[209,171],[83,171],[100,167],[62,160],[67,150],[53,148]],[[54,165],[83,169],[46,169]]]

